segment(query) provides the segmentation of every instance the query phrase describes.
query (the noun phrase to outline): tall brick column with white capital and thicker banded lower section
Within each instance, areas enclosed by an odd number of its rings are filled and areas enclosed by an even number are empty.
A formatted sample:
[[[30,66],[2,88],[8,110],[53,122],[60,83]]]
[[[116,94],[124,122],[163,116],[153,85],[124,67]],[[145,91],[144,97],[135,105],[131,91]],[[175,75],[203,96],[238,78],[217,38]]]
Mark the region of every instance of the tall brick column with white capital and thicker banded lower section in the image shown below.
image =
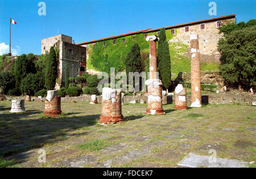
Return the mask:
[[[147,36],[150,41],[150,79],[146,80],[147,85],[147,111],[146,114],[163,114],[162,108],[162,82],[157,75],[157,59],[156,59],[156,41],[159,40],[155,35]]]

